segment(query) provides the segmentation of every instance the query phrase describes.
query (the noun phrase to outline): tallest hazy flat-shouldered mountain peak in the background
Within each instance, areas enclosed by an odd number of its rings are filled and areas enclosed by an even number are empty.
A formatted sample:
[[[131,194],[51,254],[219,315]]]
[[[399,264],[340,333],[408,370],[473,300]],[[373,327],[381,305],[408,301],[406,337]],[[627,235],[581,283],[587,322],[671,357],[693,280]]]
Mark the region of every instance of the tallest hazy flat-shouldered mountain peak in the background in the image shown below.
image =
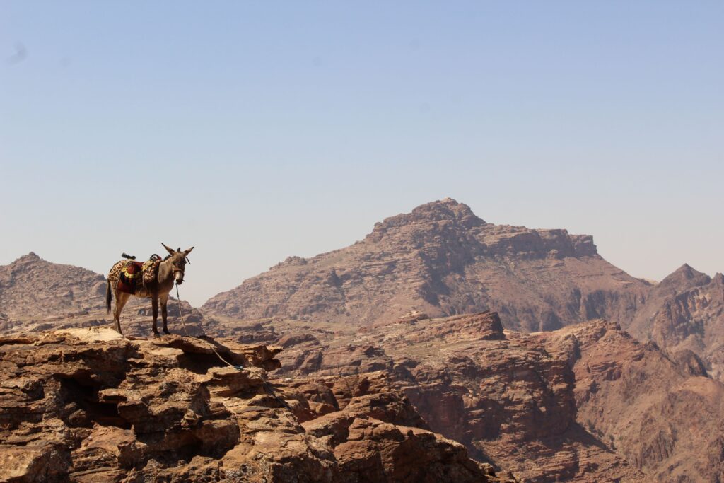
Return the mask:
[[[603,260],[589,236],[489,224],[448,198],[385,219],[347,248],[290,257],[203,309],[351,324],[490,309],[505,327],[533,331],[631,317],[648,288]]]

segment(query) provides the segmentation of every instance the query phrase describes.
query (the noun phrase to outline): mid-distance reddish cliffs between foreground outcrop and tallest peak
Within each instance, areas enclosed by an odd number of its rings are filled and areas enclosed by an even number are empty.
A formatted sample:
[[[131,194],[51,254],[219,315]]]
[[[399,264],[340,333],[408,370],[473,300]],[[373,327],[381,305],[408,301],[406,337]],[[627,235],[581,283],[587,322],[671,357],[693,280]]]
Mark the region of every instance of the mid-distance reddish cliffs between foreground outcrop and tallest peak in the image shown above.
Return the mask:
[[[269,324],[280,337],[300,333],[293,321]],[[337,374],[329,389],[344,408],[356,380],[380,385],[358,375],[377,361],[430,429],[520,479],[724,479],[723,385],[691,351],[674,356],[602,320],[529,335],[494,313],[322,327],[304,329],[317,347],[297,337],[275,374]],[[316,366],[299,357],[309,353],[321,355]]]

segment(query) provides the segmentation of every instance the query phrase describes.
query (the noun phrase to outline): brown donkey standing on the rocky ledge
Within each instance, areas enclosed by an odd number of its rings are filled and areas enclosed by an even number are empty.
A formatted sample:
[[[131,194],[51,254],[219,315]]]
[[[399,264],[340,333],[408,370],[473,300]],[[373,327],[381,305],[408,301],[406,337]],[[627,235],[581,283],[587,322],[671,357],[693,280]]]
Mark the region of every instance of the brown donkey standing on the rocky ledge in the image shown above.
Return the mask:
[[[164,245],[164,243],[161,243]],[[118,281],[121,271],[127,264],[127,260],[119,261],[115,264],[108,274],[108,285],[106,286],[106,308],[111,312],[111,288],[116,297],[116,304],[113,311],[114,328],[119,334],[121,332],[121,311],[131,295],[135,297],[151,298],[153,306],[153,335],[159,335],[159,329],[156,327],[156,320],[159,318],[159,301],[161,301],[161,318],[164,320],[164,334],[170,334],[166,326],[168,311],[166,304],[169,301],[169,292],[174,286],[174,282],[178,285],[183,283],[184,270],[186,268],[186,257],[193,250],[193,246],[188,250],[181,251],[181,248],[174,250],[164,245],[169,255],[159,264],[159,271],[153,282],[146,284],[146,293],[130,294],[118,290]]]

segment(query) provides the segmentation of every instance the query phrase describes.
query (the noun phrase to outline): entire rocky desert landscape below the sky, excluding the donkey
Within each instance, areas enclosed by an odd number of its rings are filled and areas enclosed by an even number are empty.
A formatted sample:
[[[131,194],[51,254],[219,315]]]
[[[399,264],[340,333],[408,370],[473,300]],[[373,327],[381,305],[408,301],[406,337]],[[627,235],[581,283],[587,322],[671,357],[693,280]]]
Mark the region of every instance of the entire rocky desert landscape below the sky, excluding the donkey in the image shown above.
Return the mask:
[[[724,479],[720,273],[641,280],[446,198],[182,302],[194,337],[136,299],[119,335],[105,293],[0,266],[0,481]]]

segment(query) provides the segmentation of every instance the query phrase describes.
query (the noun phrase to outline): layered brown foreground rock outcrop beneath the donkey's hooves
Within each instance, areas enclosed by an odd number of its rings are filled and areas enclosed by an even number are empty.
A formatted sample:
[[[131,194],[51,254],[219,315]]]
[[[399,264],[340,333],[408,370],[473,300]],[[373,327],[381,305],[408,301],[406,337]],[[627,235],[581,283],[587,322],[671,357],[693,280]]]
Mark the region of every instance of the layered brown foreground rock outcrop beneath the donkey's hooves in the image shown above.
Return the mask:
[[[384,377],[271,384],[276,352],[111,329],[0,339],[0,481],[500,481]]]

